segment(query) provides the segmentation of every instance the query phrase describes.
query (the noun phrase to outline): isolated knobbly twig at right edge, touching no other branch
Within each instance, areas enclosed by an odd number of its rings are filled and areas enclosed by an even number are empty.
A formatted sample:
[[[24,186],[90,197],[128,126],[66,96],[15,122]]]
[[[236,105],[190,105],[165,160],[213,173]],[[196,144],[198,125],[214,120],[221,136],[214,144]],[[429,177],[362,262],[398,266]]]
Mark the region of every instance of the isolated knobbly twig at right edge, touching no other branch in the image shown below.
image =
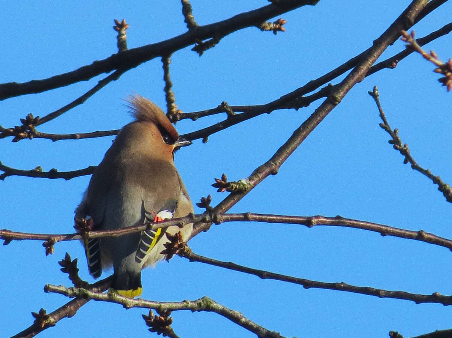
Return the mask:
[[[375,103],[377,103],[378,111],[380,112],[380,117],[381,120],[383,121],[383,123],[380,123],[380,127],[387,131],[389,135],[391,135],[392,139],[389,140],[389,143],[393,145],[392,147],[395,150],[399,150],[400,154],[402,154],[405,157],[403,163],[404,164],[410,163],[412,169],[417,170],[419,171],[419,173],[430,178],[434,184],[438,185],[438,190],[440,192],[443,192],[443,195],[444,197],[446,197],[447,202],[452,203],[452,188],[450,187],[450,185],[444,183],[441,177],[433,175],[429,169],[424,169],[419,164],[417,164],[417,162],[411,156],[408,145],[406,143],[403,144],[402,140],[400,140],[399,130],[397,128],[392,130],[391,126],[389,125],[389,122],[386,119],[385,112],[381,107],[380,94],[378,93],[377,86],[373,87],[373,91],[368,93],[375,100]]]

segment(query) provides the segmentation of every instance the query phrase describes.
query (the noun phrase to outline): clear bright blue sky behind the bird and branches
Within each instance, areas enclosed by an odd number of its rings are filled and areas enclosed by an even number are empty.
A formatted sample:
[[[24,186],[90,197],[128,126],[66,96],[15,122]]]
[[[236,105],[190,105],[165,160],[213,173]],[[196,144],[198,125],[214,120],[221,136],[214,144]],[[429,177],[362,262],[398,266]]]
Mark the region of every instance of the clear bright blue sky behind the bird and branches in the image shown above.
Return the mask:
[[[198,24],[231,17],[266,5],[266,1],[191,1]],[[190,48],[172,57],[176,103],[184,112],[273,101],[362,52],[410,1],[326,1],[282,15],[286,32],[274,36],[246,28],[221,40],[202,57]],[[422,37],[448,23],[450,4],[415,26]],[[186,31],[179,1],[9,1],[9,24],[2,36],[0,82],[47,78],[101,60],[117,52],[113,19],[127,20],[128,47],[171,38]],[[275,18],[278,19],[278,18]],[[451,37],[430,43],[446,61]],[[395,42],[385,56],[404,48]],[[332,113],[284,163],[232,212],[299,216],[336,216],[373,221],[452,238],[451,205],[427,178],[402,163],[387,143],[375,103],[367,94],[377,85],[393,128],[424,168],[452,182],[450,158],[451,94],[438,84],[433,66],[413,54],[394,70],[382,70],[357,84]],[[0,125],[19,124],[28,113],[46,115],[85,93],[106,75],[41,94],[0,103]],[[337,83],[337,80],[334,81]],[[116,129],[131,121],[123,99],[137,93],[165,107],[161,61],[132,69],[98,94],[38,131],[50,133]],[[212,205],[226,194],[210,187],[214,177],[247,177],[282,145],[321,101],[308,108],[264,114],[180,150],[175,159],[193,202],[212,194]],[[179,133],[222,120],[218,115],[177,124]],[[113,137],[52,142],[0,140],[5,165],[44,170],[73,170],[96,165]],[[73,211],[89,177],[48,180],[8,177],[0,182],[1,228],[33,233],[73,231]],[[195,212],[201,212],[195,207]],[[298,225],[225,223],[214,225],[189,243],[194,252],[238,264],[324,282],[347,282],[387,290],[451,294],[451,253],[442,247],[391,238],[364,230]],[[42,291],[46,283],[70,286],[57,262],[69,252],[79,258],[80,276],[92,282],[79,242],[62,242],[46,257],[41,242],[12,242],[1,248],[0,327],[6,336],[33,322],[31,311],[53,311],[68,301]],[[104,273],[103,276],[107,276]],[[451,327],[451,307],[415,305],[347,292],[309,289],[260,280],[175,257],[142,274],[143,298],[194,300],[209,296],[286,337],[405,337]],[[71,319],[62,319],[40,337],[142,337],[141,314],[120,305],[91,301]],[[255,337],[213,313],[177,311],[174,331],[181,337]],[[97,333],[96,333],[97,332]]]

